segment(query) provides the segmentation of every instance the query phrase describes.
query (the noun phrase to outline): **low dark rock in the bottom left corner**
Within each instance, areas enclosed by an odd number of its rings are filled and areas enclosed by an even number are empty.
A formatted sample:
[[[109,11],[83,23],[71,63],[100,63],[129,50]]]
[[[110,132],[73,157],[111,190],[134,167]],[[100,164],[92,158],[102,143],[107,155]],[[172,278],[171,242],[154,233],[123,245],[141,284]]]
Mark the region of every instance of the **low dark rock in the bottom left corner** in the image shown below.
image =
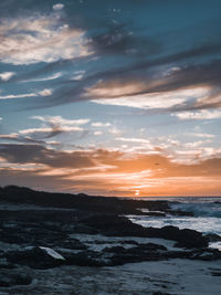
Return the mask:
[[[11,287],[14,285],[29,285],[31,284],[32,278],[27,275],[22,274],[18,271],[0,271],[0,287]]]

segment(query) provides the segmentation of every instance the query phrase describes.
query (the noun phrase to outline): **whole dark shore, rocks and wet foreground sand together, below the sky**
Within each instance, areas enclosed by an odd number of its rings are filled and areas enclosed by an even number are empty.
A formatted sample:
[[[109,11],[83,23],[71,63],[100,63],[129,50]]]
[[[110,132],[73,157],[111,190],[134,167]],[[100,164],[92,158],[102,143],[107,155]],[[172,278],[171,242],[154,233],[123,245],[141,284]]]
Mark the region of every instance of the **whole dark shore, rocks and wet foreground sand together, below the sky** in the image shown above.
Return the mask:
[[[221,252],[208,247],[214,235],[124,217],[143,217],[140,204],[151,219],[190,212],[167,201],[56,198],[18,188],[0,198],[0,294],[202,295],[208,284],[218,294]]]

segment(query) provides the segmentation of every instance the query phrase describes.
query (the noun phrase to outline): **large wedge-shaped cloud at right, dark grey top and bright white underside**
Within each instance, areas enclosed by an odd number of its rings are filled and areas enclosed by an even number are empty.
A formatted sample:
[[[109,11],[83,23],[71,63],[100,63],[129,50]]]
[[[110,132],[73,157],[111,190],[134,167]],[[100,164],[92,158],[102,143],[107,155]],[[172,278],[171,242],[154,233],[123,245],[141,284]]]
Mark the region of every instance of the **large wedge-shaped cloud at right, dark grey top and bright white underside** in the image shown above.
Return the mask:
[[[149,63],[149,66],[141,69],[138,64],[134,64],[131,69],[124,66],[92,73],[81,78],[77,84],[66,83],[65,86],[61,86],[52,99],[43,104],[50,106],[93,101],[97,104],[155,109],[164,113],[221,106],[220,60],[194,65],[186,62],[185,65],[179,66],[179,71],[171,65],[168,70],[169,64],[165,70],[165,66],[156,66],[151,61]]]

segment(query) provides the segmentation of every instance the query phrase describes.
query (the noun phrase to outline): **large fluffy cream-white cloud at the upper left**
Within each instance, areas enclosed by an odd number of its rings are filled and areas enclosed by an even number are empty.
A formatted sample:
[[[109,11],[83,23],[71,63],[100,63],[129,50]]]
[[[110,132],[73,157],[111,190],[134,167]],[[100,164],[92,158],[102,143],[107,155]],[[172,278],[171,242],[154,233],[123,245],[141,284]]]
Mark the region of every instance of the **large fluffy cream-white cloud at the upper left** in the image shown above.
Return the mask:
[[[61,8],[61,4],[55,7]],[[92,54],[86,32],[63,23],[57,12],[2,19],[0,32],[0,61],[3,63],[51,63]]]

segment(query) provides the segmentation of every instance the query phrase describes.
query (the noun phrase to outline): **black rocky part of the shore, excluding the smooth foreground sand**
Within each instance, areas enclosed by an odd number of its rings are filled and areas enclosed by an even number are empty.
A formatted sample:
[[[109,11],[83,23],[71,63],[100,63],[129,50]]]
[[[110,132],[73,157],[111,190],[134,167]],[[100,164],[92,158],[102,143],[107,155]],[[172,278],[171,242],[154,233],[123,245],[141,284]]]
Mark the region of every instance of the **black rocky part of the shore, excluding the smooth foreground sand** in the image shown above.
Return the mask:
[[[135,212],[139,214],[139,208],[146,208],[152,214],[155,211],[190,214],[172,211],[166,201],[88,196],[72,196],[72,199],[76,198],[72,201],[67,194],[53,203],[53,193],[46,193],[45,199],[43,194],[17,187],[0,190],[0,287],[4,292],[12,286],[32,284],[35,277],[31,270],[115,267],[177,259],[221,260],[220,251],[208,247],[212,239],[220,236],[204,236],[175,226],[143,228],[125,217]],[[151,239],[156,240],[152,242]],[[168,247],[164,241],[169,241],[172,246]],[[220,276],[221,272],[213,272],[213,275]]]

